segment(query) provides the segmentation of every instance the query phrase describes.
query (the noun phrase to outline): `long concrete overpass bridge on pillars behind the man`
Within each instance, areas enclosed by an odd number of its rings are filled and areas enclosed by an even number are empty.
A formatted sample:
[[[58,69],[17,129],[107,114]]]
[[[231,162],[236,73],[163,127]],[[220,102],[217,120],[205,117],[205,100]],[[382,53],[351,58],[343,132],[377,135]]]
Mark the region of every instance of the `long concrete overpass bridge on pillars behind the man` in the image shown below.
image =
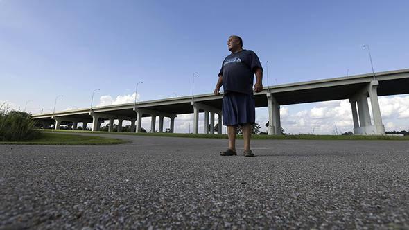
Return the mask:
[[[409,94],[409,69],[385,71],[329,78],[308,82],[297,82],[285,85],[264,87],[263,91],[254,94],[256,107],[268,107],[268,134],[281,134],[280,105],[299,103],[314,103],[327,100],[349,99],[354,121],[354,134],[385,134],[382,123],[378,96]],[[369,114],[367,98],[371,101],[373,123]],[[37,124],[49,128],[54,124],[55,129],[60,125],[72,125],[76,129],[78,123],[92,123],[92,131],[100,129],[103,121],[109,120],[109,131],[113,131],[114,120],[119,121],[118,132],[122,130],[124,120],[131,122],[131,132],[141,132],[141,118],[150,116],[151,130],[155,132],[156,117],[159,116],[159,132],[164,130],[164,118],[171,119],[170,130],[173,132],[175,118],[179,114],[194,114],[193,133],[198,133],[199,113],[204,112],[204,133],[214,133],[215,114],[218,123],[221,122],[223,95],[201,94],[150,100],[139,103],[126,103],[55,112],[54,114],[34,114],[32,117]],[[210,123],[209,123],[210,120]],[[207,124],[207,125],[206,125]],[[209,127],[210,124],[210,127]],[[218,125],[217,132],[221,134],[222,125]]]

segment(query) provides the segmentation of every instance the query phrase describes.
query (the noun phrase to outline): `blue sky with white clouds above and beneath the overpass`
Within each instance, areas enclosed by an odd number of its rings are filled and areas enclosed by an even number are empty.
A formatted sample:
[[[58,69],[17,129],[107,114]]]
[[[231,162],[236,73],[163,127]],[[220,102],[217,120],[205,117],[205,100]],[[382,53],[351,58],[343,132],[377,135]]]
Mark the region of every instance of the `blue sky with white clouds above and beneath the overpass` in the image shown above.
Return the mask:
[[[408,1],[0,0],[0,100],[16,109],[33,100],[28,112],[51,112],[55,96],[64,95],[56,110],[88,107],[92,91],[101,89],[94,105],[106,105],[118,96],[132,100],[139,81],[139,100],[187,96],[196,71],[195,93],[211,93],[233,34],[264,65],[269,61],[270,85],[345,76],[348,69],[369,73],[363,44],[371,47],[375,71],[406,69],[408,8]],[[385,118],[392,129],[409,128],[399,115],[406,96],[395,97],[403,101],[397,117]],[[284,109],[295,120],[322,106]],[[257,112],[264,122],[266,109]]]

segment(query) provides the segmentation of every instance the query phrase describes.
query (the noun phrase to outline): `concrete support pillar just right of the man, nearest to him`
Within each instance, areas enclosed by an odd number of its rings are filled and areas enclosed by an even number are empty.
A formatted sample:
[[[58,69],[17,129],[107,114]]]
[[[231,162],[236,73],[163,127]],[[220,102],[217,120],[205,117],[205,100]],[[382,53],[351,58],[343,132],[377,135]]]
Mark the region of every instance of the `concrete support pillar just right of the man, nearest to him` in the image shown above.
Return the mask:
[[[280,105],[272,94],[267,94],[268,135],[281,135]]]

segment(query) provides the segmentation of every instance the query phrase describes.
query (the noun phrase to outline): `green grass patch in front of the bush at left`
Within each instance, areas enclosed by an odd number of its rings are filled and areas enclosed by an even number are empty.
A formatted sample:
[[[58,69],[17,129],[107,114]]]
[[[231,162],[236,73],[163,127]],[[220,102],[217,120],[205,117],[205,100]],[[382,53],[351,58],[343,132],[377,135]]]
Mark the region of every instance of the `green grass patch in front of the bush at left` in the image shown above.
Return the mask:
[[[128,141],[105,138],[102,136],[84,136],[49,132],[44,132],[40,138],[30,141],[0,141],[0,144],[3,145],[107,145],[118,143],[128,143]]]

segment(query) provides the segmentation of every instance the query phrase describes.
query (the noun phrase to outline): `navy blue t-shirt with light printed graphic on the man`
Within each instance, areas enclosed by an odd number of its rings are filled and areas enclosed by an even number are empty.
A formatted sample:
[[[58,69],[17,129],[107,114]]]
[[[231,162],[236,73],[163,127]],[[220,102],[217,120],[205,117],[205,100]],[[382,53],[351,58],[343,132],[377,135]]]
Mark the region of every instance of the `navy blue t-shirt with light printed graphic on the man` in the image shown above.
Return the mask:
[[[219,76],[223,76],[223,91],[253,95],[254,73],[263,70],[259,57],[249,50],[228,55],[222,64]]]

